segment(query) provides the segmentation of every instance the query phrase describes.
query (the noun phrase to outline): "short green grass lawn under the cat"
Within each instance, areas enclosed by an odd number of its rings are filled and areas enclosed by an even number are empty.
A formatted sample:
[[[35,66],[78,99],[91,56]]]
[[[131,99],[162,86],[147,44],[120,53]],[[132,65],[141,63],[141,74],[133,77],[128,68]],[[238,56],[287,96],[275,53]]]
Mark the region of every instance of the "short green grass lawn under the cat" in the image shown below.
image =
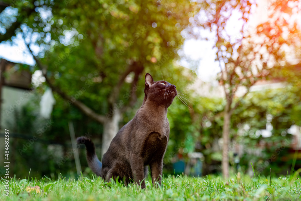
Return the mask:
[[[270,178],[244,175],[223,181],[218,176],[163,178],[159,188],[146,181],[146,189],[135,184],[125,187],[120,183],[106,183],[99,177],[82,179],[41,179],[36,181],[10,179],[9,197],[5,196],[4,180],[0,183],[0,200],[299,200],[299,174],[291,177]],[[39,186],[41,193],[28,193],[27,186]]]

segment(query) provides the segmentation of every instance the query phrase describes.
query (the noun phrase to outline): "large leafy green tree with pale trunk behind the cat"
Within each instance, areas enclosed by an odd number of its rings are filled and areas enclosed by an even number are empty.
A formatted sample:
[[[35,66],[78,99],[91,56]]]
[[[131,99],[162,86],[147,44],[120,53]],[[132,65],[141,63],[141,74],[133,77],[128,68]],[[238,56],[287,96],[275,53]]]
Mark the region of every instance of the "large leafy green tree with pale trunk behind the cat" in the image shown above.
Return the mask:
[[[121,115],[143,91],[137,90],[144,83],[143,71],[157,78],[161,72],[176,74],[174,81],[180,79],[182,70],[173,68],[173,60],[194,3],[66,0],[11,7],[1,3],[6,9],[17,8],[20,16],[5,27],[1,39],[22,34],[47,85],[104,125],[102,154],[119,130]],[[10,17],[4,15],[3,20]],[[40,49],[33,51],[36,46]]]

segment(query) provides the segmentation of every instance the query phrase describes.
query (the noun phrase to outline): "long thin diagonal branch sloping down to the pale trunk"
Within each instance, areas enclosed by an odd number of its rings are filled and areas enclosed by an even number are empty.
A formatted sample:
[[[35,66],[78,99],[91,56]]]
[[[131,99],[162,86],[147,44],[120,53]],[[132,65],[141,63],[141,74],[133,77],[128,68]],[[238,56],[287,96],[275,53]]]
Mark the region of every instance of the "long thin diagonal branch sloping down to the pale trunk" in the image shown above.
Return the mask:
[[[29,52],[33,55],[33,52],[29,48],[28,44],[27,44],[27,47],[29,49]],[[60,88],[58,88],[57,86],[54,86],[51,83],[51,81],[49,80],[49,78],[47,77],[47,71],[45,71],[45,69],[47,69],[47,67],[43,66],[42,63],[39,61],[39,59],[36,58],[36,56],[33,55],[33,58],[36,61],[38,68],[42,71],[42,74],[45,77],[46,82],[48,83],[48,86],[51,88],[52,91],[55,91],[56,93],[58,93],[63,99],[67,100],[68,102],[73,103],[77,108],[79,108],[79,110],[81,110],[88,117],[90,117],[102,124],[106,123],[107,119],[104,115],[99,115],[99,114],[95,113],[91,108],[86,106],[84,103],[80,102],[77,99],[74,100],[72,97],[70,97],[66,93],[64,93]]]

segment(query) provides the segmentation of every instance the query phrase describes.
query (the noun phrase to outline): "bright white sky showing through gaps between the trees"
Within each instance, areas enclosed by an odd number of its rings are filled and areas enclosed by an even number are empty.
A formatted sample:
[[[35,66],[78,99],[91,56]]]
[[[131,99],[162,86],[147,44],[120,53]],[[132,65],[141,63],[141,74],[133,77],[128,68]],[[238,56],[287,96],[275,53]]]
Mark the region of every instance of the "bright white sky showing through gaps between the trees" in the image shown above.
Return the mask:
[[[264,9],[266,9],[266,5],[262,2],[267,4],[267,1],[265,0],[259,3],[258,9],[259,11],[261,11],[261,17],[258,18],[258,16],[255,16],[255,23],[258,23],[259,19],[262,20],[262,18],[265,18],[262,17],[262,10],[264,11]],[[225,30],[228,33],[228,35],[233,37],[241,37],[239,30],[242,26],[242,22],[237,20],[240,17],[240,15],[241,14],[237,11],[234,11],[234,13],[231,15],[228,24],[225,27]],[[252,20],[250,21],[252,24],[255,20],[253,20],[253,22]],[[182,59],[179,61],[179,64],[184,67],[190,68],[191,64],[189,63],[189,61],[197,62],[197,76],[205,82],[210,82],[216,80],[216,75],[218,72],[220,72],[219,62],[215,61],[216,51],[213,48],[215,46],[214,34],[210,33],[208,30],[201,30],[200,33],[203,36],[207,36],[209,40],[186,39],[183,48],[180,51],[180,56],[181,54],[182,56],[185,55],[185,57],[188,58],[188,60]],[[7,44],[5,42],[0,43],[0,58],[5,58],[9,61],[25,63],[29,65],[35,64],[32,55],[27,50],[27,46],[25,45],[21,34],[18,34],[13,39],[13,44]]]

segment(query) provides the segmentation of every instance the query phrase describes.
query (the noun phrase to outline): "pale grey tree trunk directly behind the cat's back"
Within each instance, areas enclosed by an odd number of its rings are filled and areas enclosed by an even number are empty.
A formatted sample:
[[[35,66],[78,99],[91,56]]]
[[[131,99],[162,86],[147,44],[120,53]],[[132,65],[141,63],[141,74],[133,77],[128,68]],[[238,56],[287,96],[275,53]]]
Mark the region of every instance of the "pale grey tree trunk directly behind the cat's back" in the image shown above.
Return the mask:
[[[107,119],[104,123],[104,132],[102,134],[102,146],[101,155],[103,156],[105,152],[109,149],[110,143],[117,134],[119,130],[118,123],[121,119],[121,114],[119,109],[113,112],[111,118]],[[102,158],[102,157],[101,157]]]

